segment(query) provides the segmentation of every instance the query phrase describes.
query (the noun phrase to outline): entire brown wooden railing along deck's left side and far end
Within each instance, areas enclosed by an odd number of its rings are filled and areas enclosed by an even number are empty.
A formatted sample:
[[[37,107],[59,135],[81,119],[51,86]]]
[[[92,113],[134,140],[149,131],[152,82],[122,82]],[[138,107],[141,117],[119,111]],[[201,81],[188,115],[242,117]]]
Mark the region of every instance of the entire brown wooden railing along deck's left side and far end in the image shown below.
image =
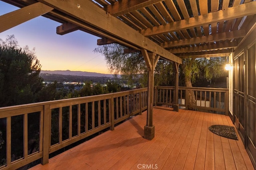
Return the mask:
[[[193,90],[199,104],[188,104],[188,90]],[[155,87],[154,104],[172,106],[173,94],[174,87]],[[178,99],[179,106],[186,109],[208,109],[225,113],[228,110],[228,89],[180,87]],[[35,160],[46,164],[50,153],[104,129],[114,130],[117,123],[132,115],[141,114],[147,109],[147,101],[147,88],[141,88],[2,107],[0,148],[6,151],[6,156],[0,169],[17,169]],[[4,139],[3,144],[1,139]]]

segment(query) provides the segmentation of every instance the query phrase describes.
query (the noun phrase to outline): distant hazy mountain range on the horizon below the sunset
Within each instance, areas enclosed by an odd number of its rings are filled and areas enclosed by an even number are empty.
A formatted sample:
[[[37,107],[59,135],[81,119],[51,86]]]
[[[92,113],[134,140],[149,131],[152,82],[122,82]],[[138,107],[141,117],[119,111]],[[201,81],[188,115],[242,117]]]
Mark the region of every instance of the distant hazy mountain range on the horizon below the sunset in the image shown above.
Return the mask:
[[[62,74],[71,76],[88,76],[88,77],[113,77],[113,74],[102,74],[97,72],[86,72],[86,71],[70,71],[70,70],[41,70],[42,74]]]

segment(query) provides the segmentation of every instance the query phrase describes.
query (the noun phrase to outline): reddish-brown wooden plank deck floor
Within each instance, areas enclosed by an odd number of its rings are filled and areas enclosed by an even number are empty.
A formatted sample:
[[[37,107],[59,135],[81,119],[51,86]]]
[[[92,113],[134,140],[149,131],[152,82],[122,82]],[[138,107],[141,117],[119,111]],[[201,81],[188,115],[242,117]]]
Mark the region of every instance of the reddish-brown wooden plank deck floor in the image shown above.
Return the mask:
[[[240,137],[236,141],[208,130],[213,124],[233,126],[228,116],[155,107],[153,123],[152,141],[142,137],[144,112],[32,169],[254,169]]]

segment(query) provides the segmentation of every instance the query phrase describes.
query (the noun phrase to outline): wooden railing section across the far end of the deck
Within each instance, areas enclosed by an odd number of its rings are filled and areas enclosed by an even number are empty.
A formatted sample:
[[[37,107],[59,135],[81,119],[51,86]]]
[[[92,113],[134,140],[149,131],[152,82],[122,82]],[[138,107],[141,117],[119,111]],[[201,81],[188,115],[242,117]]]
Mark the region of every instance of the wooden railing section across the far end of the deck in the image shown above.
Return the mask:
[[[189,93],[192,92],[192,93]],[[189,95],[194,94],[194,102],[189,102]],[[155,105],[172,107],[174,101],[174,87],[155,87]],[[228,115],[228,89],[226,88],[198,88],[179,87],[178,104],[180,108],[212,111]]]

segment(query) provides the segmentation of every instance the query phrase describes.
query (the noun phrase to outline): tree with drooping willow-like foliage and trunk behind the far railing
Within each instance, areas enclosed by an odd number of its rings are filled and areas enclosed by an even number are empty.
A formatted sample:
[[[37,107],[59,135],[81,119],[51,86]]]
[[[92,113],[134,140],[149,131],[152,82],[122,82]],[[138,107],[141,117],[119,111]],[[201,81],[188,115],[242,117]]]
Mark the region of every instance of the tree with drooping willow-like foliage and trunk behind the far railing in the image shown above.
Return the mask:
[[[148,70],[140,53],[125,54],[123,47],[118,44],[102,45],[94,52],[105,56],[110,72],[122,74],[129,80],[139,78],[142,86],[147,86]],[[221,68],[228,59],[225,57],[184,59],[179,68],[179,85],[192,87],[198,80],[212,80],[225,75]],[[154,71],[154,84],[157,86],[174,86],[173,64],[170,61],[159,60]],[[194,92],[190,90],[189,104],[195,104]]]

